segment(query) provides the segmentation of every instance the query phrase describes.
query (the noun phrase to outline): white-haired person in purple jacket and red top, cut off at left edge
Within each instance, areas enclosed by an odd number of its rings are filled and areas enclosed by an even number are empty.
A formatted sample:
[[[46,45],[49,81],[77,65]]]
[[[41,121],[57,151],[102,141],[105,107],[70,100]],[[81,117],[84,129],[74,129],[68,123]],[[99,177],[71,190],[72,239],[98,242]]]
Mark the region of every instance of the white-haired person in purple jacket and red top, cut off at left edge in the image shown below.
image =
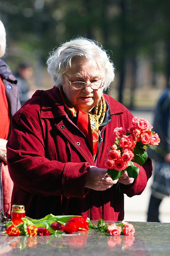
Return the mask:
[[[0,20],[0,58],[6,51],[6,31]],[[10,120],[20,108],[19,86],[9,66],[0,59],[0,210],[5,216],[10,216],[11,194],[13,181],[10,178],[7,160],[6,144],[10,135]]]

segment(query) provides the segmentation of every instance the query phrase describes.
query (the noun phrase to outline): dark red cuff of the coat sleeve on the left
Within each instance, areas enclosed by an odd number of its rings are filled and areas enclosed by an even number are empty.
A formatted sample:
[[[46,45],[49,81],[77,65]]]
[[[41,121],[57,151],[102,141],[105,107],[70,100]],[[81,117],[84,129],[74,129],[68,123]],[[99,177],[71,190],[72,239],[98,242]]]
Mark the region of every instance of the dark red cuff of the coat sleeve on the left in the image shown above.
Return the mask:
[[[65,197],[85,197],[89,189],[85,188],[89,173],[88,163],[67,163],[62,176],[62,189]]]

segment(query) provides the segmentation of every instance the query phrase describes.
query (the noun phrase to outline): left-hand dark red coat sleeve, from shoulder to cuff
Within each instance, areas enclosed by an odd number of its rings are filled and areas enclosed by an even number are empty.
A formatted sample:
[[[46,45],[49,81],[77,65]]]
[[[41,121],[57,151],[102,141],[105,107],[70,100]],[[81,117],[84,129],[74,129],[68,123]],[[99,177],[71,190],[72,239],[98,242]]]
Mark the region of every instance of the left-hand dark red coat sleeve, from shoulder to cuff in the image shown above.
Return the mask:
[[[47,158],[43,124],[40,118],[37,121],[38,115],[30,116],[18,111],[12,118],[7,162],[15,186],[24,193],[39,196],[84,197],[88,193],[85,181],[89,164]]]

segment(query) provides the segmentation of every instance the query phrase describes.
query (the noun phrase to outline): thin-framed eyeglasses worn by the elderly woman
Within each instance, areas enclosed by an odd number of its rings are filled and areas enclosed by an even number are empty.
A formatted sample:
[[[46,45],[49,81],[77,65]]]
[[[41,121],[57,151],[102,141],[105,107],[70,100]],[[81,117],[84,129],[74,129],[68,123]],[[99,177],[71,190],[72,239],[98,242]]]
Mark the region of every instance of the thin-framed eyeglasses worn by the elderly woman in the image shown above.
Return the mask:
[[[64,73],[65,74],[65,73]],[[67,75],[65,74],[65,76],[67,77]],[[104,78],[104,77],[103,77]],[[103,80],[102,78],[102,80]],[[68,80],[68,77],[67,77],[67,80]],[[105,82],[102,82],[102,81],[95,81],[95,82],[92,82],[92,83],[85,83],[85,82],[70,82],[68,80],[69,84],[74,88],[74,89],[78,89],[78,90],[82,90],[86,87],[86,85],[89,85],[93,90],[95,89],[99,89],[99,88],[102,88],[103,86],[105,86]]]

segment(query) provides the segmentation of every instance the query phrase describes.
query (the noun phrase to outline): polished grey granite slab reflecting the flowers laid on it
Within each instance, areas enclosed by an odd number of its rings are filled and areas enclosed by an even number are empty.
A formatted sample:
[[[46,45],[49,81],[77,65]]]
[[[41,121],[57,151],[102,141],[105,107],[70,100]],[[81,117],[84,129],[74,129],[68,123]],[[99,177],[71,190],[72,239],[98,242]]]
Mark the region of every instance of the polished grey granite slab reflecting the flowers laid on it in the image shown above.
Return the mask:
[[[95,221],[92,221],[96,224]],[[111,224],[112,221],[106,221]],[[169,256],[170,223],[131,222],[134,236],[109,236],[95,230],[71,235],[10,237],[0,231],[0,256]]]

